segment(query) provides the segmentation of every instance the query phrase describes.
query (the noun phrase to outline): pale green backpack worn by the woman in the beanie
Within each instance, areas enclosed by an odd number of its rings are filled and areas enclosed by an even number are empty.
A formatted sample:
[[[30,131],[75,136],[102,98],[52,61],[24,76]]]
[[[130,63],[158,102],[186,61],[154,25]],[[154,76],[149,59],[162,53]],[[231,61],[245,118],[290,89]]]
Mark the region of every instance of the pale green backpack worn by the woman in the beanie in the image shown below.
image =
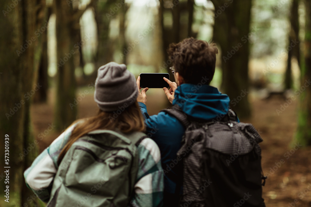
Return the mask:
[[[67,151],[53,181],[48,207],[127,206],[138,171],[142,132],[95,130]]]

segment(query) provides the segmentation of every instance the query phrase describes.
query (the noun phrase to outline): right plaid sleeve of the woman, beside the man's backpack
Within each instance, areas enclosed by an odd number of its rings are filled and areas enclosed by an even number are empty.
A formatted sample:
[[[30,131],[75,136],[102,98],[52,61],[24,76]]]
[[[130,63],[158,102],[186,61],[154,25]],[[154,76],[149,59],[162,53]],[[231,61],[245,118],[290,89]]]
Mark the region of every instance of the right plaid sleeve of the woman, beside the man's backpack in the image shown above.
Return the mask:
[[[158,207],[163,205],[164,174],[160,150],[156,142],[145,138],[138,146],[139,169],[135,194],[130,202],[133,207]]]

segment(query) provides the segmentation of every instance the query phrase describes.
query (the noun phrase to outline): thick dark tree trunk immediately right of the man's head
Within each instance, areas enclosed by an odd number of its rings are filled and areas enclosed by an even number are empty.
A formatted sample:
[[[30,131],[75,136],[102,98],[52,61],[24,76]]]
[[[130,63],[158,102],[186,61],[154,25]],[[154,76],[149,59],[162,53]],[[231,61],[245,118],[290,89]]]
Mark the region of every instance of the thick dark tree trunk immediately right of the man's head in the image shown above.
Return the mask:
[[[215,6],[213,39],[221,48],[222,92],[231,99],[231,107],[241,118],[250,117],[248,102],[248,56],[252,1],[212,0]],[[217,11],[222,11],[220,14]]]

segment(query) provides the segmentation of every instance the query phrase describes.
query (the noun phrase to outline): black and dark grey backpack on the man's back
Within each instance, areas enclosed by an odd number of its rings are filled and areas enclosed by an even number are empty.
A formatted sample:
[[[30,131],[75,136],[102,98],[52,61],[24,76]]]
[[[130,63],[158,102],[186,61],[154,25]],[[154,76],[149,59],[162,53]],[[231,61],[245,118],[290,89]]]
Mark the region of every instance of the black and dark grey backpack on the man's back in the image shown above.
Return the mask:
[[[162,110],[185,127],[177,157],[183,160],[179,206],[265,206],[262,138],[252,124],[238,123],[230,109],[221,120],[192,119],[175,105]],[[263,180],[263,183],[262,183]]]

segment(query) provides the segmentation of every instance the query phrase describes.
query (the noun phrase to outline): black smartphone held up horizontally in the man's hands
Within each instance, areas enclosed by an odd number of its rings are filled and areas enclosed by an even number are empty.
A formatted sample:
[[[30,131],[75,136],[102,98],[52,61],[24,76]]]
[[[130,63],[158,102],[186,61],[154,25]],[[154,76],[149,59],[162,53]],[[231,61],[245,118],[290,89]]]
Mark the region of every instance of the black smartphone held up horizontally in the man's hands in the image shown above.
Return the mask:
[[[141,88],[169,88],[169,84],[163,79],[169,79],[168,73],[141,73],[139,76]]]

